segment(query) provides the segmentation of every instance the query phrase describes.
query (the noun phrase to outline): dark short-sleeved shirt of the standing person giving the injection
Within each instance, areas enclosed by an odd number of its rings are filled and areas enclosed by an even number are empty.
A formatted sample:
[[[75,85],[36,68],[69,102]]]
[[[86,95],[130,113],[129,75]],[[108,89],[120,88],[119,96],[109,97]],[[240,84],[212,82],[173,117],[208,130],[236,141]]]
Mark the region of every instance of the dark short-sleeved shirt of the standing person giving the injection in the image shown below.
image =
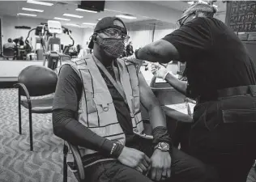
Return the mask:
[[[186,62],[191,97],[214,99],[217,90],[256,84],[254,63],[244,44],[219,19],[193,19],[163,40]]]

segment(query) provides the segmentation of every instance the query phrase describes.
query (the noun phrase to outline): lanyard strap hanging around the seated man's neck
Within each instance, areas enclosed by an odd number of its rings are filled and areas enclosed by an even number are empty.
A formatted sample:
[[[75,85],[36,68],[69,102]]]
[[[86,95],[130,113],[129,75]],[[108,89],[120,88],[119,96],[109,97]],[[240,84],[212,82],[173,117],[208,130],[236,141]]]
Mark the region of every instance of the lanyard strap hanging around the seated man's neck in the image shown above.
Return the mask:
[[[110,82],[113,84],[114,87],[116,87],[117,91],[122,95],[123,99],[125,99],[126,102],[126,94],[125,91],[122,89],[122,84],[120,82],[119,74],[117,67],[113,66],[113,71],[115,73],[115,77],[117,81],[115,81],[112,77],[111,74],[109,74],[109,71],[105,68],[105,66],[96,58],[92,55],[93,60],[95,61],[96,65],[99,66],[100,70],[103,71],[103,73],[109,78]]]

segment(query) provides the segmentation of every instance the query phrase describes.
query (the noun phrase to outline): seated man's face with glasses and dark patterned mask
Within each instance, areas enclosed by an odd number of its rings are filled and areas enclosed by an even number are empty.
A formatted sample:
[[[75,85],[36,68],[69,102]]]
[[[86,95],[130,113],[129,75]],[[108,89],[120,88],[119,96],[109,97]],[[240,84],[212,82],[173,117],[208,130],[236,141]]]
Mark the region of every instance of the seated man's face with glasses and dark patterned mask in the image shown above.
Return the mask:
[[[109,28],[103,33],[109,38],[99,36],[97,44],[100,45],[100,49],[103,49],[109,57],[120,57],[125,48],[125,42],[129,40],[129,36],[114,28]]]

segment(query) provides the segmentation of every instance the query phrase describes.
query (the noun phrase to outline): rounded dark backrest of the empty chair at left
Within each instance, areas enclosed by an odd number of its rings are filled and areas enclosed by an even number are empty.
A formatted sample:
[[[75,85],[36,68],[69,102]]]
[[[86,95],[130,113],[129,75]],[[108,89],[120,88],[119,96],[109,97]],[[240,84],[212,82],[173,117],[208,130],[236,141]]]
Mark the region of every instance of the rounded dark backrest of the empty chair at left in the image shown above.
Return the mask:
[[[55,92],[58,75],[45,66],[28,66],[19,73],[18,83],[23,83],[30,96],[48,95]],[[25,95],[22,91],[20,95]]]

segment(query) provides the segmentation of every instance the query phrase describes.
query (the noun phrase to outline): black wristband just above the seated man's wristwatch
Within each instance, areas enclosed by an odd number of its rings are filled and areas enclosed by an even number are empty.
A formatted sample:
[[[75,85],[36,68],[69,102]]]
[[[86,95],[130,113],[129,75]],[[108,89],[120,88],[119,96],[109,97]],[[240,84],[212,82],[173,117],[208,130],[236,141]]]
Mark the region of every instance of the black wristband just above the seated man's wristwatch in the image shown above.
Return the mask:
[[[159,142],[169,143],[170,149],[172,147],[172,139],[169,136],[168,129],[164,126],[157,126],[152,131],[153,146],[156,146]]]

